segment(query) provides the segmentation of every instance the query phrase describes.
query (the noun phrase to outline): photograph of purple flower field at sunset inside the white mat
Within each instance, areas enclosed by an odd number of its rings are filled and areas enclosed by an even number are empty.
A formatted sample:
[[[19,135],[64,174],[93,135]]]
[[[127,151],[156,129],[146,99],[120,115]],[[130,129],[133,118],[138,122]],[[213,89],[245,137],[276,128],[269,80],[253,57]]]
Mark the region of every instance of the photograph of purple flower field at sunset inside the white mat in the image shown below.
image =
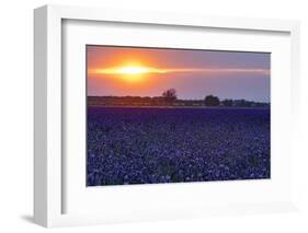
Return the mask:
[[[271,178],[271,53],[85,45],[87,186]]]

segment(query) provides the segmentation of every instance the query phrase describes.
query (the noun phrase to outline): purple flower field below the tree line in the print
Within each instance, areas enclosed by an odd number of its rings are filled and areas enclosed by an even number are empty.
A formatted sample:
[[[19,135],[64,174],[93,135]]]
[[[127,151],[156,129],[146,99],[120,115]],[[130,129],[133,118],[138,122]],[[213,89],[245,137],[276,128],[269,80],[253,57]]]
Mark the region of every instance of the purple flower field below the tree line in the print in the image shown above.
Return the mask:
[[[270,178],[270,109],[88,107],[88,186]]]

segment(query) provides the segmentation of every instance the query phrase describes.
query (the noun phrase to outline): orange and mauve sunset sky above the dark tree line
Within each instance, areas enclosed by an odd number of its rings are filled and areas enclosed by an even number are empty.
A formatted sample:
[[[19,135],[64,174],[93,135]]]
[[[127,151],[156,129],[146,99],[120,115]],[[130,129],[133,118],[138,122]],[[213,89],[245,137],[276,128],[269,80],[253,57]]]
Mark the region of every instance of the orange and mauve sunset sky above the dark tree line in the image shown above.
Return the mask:
[[[270,102],[267,53],[87,46],[88,96],[159,96],[175,89],[182,100],[213,94]]]

